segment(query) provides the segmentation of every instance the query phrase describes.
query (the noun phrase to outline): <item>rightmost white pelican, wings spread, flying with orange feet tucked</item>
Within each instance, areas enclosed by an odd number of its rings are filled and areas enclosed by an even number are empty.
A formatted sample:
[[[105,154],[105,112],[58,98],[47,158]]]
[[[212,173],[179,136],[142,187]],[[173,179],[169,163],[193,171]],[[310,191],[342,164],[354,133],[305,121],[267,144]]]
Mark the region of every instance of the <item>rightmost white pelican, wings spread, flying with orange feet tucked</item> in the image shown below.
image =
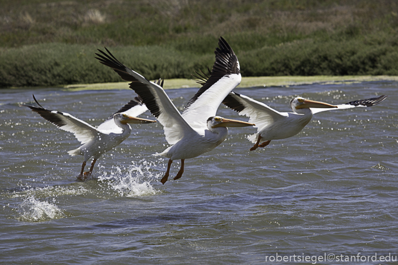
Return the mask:
[[[231,92],[224,99],[223,104],[237,111],[239,115],[250,117],[249,122],[256,124],[257,133],[247,137],[251,142],[255,143],[250,148],[250,151],[253,151],[257,147],[266,147],[271,140],[289,138],[301,132],[310,122],[312,114],[327,110],[371,107],[381,103],[386,97],[383,95],[335,106],[303,97],[296,97],[290,101],[290,107],[294,112],[278,112],[250,97]],[[260,144],[262,139],[264,142]]]

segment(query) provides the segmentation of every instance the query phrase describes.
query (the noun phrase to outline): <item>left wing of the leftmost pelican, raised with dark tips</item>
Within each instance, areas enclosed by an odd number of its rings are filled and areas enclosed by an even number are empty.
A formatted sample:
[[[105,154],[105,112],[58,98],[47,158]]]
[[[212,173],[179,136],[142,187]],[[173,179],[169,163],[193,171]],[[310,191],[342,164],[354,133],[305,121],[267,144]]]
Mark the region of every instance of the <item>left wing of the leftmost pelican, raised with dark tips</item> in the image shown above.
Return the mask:
[[[34,101],[38,106],[34,106],[31,104],[21,104],[19,106],[25,106],[30,108],[32,111],[37,112],[40,116],[50,121],[53,125],[67,132],[71,132],[80,141],[82,144],[90,141],[97,135],[99,132],[89,125],[85,123],[83,120],[73,117],[69,113],[59,112],[56,110],[47,110],[40,105],[36,98],[33,95]]]

